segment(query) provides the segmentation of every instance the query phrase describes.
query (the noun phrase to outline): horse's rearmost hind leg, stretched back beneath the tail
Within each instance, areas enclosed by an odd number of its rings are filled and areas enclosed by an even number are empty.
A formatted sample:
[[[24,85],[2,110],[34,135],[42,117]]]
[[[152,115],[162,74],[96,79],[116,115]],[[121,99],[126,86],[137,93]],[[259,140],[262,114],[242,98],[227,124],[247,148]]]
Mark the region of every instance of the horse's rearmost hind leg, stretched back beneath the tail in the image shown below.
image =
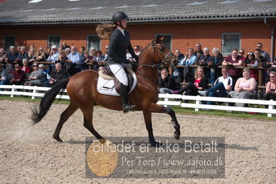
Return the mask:
[[[64,122],[68,120],[68,118],[75,113],[75,111],[78,109],[78,107],[70,103],[69,106],[63,111],[62,115],[60,116],[59,123],[57,124],[57,128],[55,129],[55,133],[53,134],[53,138],[57,140],[58,142],[62,142],[62,139],[59,138],[59,133],[62,130],[62,126],[64,125]]]

